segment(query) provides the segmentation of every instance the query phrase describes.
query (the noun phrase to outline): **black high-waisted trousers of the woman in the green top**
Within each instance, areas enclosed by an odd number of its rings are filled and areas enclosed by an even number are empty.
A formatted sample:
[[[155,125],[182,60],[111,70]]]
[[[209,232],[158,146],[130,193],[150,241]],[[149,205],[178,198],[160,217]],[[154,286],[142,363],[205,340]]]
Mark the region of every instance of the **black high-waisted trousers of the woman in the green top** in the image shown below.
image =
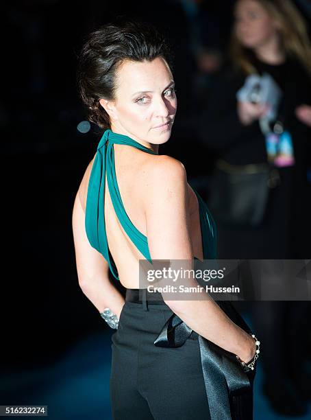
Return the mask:
[[[171,314],[164,302],[125,301],[112,334],[114,420],[210,419],[197,333],[179,348],[153,344]]]

